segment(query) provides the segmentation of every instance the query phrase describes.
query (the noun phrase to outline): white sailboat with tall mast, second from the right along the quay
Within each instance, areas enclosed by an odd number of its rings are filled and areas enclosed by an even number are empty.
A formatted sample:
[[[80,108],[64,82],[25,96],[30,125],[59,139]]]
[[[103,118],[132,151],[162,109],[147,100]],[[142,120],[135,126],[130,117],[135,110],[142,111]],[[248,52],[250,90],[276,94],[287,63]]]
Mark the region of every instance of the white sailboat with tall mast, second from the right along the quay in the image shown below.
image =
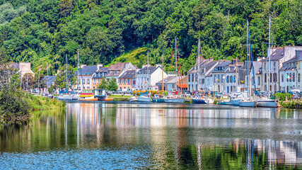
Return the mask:
[[[248,98],[244,98],[242,101],[239,101],[239,106],[240,107],[251,107],[255,108],[257,106],[257,101],[255,101],[254,98],[251,98],[251,89],[250,89],[250,63],[249,60],[251,59],[252,62],[252,47],[250,45],[250,30],[248,27],[248,21],[247,21],[247,56],[248,56]],[[250,49],[250,50],[249,50]],[[250,52],[250,53],[249,53]],[[252,65],[252,72],[254,73],[254,66]],[[254,85],[255,85],[255,73],[254,73]],[[256,91],[256,86],[255,86],[255,91]]]

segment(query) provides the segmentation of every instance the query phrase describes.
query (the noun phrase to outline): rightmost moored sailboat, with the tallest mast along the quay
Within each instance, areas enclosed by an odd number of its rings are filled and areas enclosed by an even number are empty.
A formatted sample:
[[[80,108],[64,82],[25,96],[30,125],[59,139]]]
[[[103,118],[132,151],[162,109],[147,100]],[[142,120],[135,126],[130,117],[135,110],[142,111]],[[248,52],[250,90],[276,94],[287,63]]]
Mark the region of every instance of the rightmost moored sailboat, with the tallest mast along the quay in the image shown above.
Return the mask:
[[[269,16],[269,48],[270,48],[270,41],[271,41],[271,17]],[[269,50],[268,48],[268,50]],[[270,53],[269,55],[269,71],[270,71]],[[269,78],[271,79],[271,78]],[[267,87],[269,87],[269,80],[267,80]],[[259,98],[257,100],[257,107],[264,107],[264,108],[277,108],[279,104],[276,100],[270,98]]]

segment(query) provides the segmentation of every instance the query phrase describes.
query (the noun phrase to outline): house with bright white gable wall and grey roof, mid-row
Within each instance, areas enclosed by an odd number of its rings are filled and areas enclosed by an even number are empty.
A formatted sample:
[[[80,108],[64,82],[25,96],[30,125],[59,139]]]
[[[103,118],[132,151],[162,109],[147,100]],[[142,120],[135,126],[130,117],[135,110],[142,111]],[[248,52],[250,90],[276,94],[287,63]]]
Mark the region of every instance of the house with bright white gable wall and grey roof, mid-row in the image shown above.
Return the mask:
[[[162,70],[161,64],[156,64],[156,66],[151,67],[143,65],[143,68],[137,72],[137,89],[143,91],[154,89],[152,86],[156,86],[158,81],[166,77],[168,77],[168,74]]]

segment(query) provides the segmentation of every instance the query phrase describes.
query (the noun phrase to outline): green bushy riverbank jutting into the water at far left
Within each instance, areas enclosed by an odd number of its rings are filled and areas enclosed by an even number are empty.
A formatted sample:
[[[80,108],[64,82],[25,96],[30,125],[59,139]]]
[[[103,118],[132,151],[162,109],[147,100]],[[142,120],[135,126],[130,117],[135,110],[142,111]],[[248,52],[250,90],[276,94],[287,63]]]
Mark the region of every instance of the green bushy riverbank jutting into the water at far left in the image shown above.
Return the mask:
[[[28,120],[33,111],[64,108],[66,103],[56,98],[33,96],[24,91],[0,91],[0,120]]]

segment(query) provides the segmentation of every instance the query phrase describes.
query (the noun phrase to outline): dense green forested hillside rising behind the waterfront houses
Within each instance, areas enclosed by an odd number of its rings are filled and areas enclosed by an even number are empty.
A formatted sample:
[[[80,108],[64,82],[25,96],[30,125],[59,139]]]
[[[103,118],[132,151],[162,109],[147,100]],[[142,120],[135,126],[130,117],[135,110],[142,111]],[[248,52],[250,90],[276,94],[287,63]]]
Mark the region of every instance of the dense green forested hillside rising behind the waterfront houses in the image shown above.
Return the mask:
[[[265,56],[268,18],[274,45],[302,45],[302,0],[0,0],[0,60],[52,64],[109,64],[139,49],[136,60],[173,66],[175,38],[186,72],[200,36],[202,56],[245,58],[246,19],[254,56]],[[141,47],[144,47],[141,49]],[[143,50],[143,52],[141,52]],[[127,55],[125,55],[127,56]],[[127,61],[127,57],[124,57]]]

